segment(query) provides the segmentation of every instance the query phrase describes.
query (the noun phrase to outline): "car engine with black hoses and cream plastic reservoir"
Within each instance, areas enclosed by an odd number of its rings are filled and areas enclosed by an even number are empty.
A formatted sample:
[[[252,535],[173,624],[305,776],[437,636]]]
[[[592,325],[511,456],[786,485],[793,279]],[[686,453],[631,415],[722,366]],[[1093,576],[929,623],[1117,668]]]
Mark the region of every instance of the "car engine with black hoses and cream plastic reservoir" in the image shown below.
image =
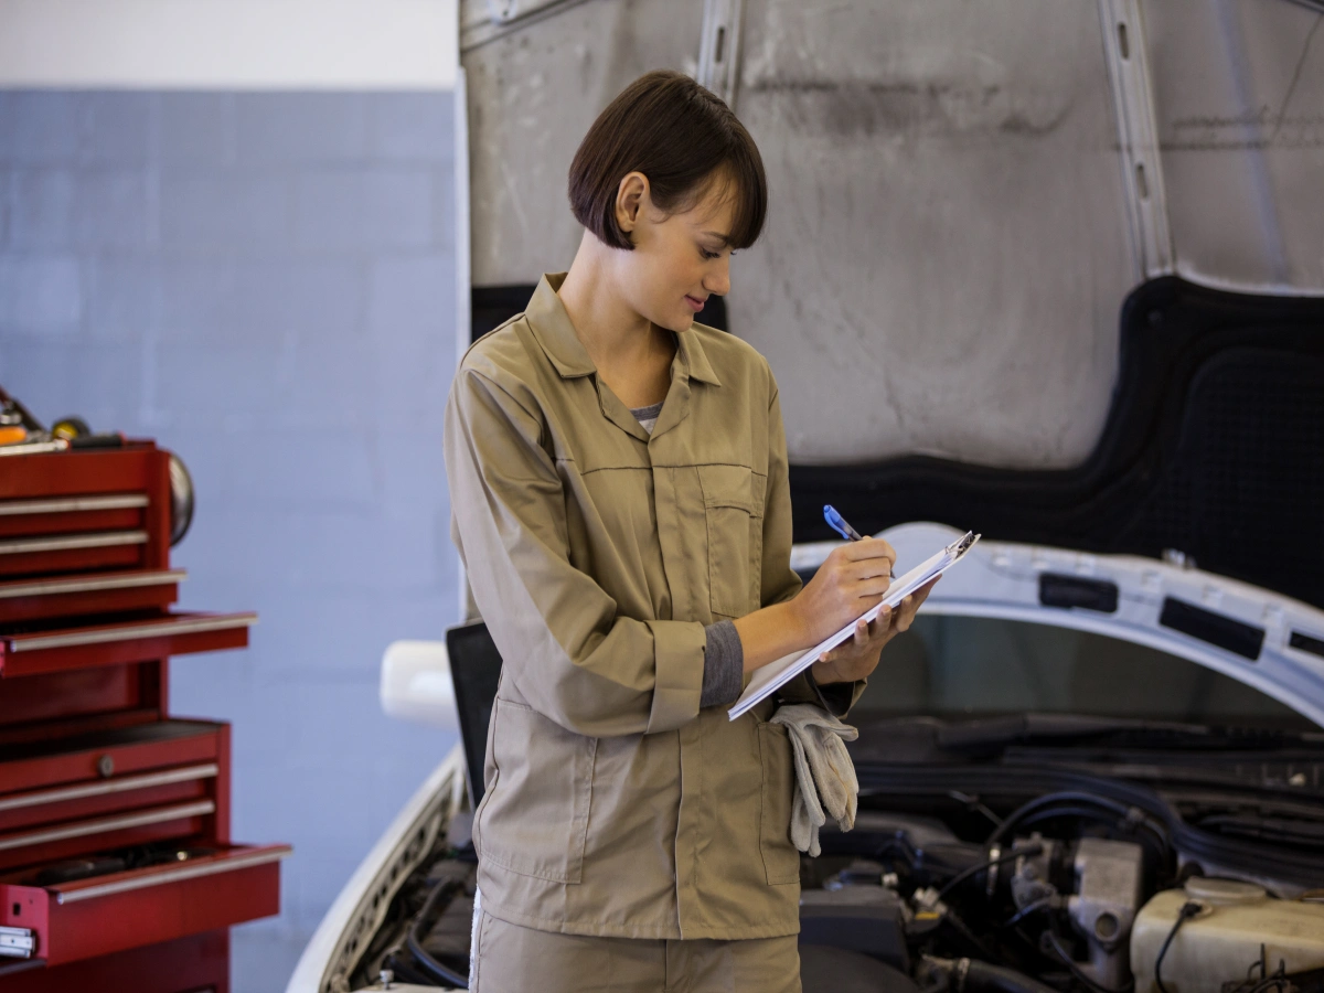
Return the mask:
[[[1324,993],[1324,891],[1202,865],[1174,834],[1153,809],[1088,789],[1004,813],[960,790],[866,792],[854,829],[825,829],[822,854],[801,859],[804,989]],[[351,989],[383,976],[463,988],[475,875],[451,825]]]

